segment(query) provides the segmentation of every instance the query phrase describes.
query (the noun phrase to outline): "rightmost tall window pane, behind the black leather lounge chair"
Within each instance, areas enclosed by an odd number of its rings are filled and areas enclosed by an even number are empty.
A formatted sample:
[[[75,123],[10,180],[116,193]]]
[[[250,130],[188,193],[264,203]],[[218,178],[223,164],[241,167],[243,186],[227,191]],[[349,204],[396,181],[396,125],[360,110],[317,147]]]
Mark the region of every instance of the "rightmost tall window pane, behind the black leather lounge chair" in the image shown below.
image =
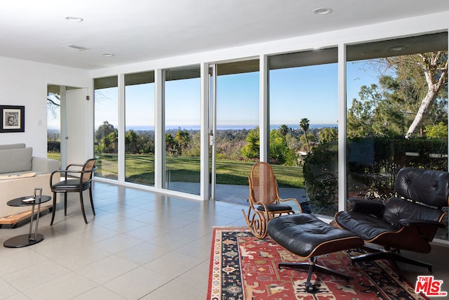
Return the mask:
[[[448,170],[447,50],[447,32],[347,46],[349,198],[387,200],[402,167]]]

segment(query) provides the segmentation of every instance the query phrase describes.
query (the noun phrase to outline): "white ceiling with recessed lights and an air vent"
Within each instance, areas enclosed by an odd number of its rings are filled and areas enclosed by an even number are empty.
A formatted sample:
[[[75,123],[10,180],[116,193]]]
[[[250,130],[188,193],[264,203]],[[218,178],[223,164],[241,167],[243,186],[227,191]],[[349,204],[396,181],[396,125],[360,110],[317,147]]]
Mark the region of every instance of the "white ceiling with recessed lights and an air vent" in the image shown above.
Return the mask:
[[[321,7],[333,12],[313,13]],[[97,69],[448,10],[448,0],[1,0],[0,56]]]

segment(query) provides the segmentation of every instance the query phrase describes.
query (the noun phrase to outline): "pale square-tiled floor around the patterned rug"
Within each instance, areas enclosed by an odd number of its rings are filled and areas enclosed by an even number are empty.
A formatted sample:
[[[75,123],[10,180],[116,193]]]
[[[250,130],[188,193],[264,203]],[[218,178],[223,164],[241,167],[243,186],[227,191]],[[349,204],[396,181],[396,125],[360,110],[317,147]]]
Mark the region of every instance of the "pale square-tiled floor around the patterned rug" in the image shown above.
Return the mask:
[[[213,226],[245,225],[239,204],[108,183],[95,182],[94,201],[88,225],[72,194],[67,216],[59,207],[53,226],[51,214],[41,216],[43,242],[0,246],[0,299],[206,299]],[[1,244],[27,233],[28,224],[1,228]],[[425,258],[449,291],[449,249],[436,246]],[[420,270],[404,268],[414,283]]]

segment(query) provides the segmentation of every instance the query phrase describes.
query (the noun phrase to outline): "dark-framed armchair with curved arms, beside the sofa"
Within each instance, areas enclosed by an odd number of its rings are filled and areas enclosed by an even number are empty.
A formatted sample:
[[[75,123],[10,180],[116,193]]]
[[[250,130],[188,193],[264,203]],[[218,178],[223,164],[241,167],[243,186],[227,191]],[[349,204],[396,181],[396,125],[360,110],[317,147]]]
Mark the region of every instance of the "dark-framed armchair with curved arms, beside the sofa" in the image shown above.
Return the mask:
[[[83,191],[89,190],[89,197],[91,198],[91,207],[93,215],[95,216],[95,208],[93,207],[92,197],[92,178],[95,172],[95,162],[97,158],[86,160],[84,164],[69,164],[65,170],[53,171],[50,177],[50,187],[53,192],[53,212],[51,216],[51,223],[55,220],[56,211],[56,195],[64,193],[64,215],[67,216],[67,193],[79,193],[79,200],[81,202],[81,212],[83,213],[84,223],[88,223],[86,219],[86,211],[84,210]],[[53,176],[60,174],[62,180],[53,182]]]

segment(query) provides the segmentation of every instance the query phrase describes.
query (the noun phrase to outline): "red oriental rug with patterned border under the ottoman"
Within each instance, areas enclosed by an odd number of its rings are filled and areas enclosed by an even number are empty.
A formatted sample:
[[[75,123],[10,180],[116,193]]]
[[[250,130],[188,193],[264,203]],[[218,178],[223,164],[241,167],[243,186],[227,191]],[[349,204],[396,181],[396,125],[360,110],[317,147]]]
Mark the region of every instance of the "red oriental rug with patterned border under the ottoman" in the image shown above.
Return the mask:
[[[248,228],[214,228],[208,283],[208,300],[265,299],[427,299],[414,287],[398,280],[384,261],[351,264],[350,256],[363,254],[350,249],[318,256],[317,263],[354,278],[316,272],[312,292],[306,292],[307,272],[279,270],[278,263],[307,262],[288,252],[269,236],[254,237]]]

